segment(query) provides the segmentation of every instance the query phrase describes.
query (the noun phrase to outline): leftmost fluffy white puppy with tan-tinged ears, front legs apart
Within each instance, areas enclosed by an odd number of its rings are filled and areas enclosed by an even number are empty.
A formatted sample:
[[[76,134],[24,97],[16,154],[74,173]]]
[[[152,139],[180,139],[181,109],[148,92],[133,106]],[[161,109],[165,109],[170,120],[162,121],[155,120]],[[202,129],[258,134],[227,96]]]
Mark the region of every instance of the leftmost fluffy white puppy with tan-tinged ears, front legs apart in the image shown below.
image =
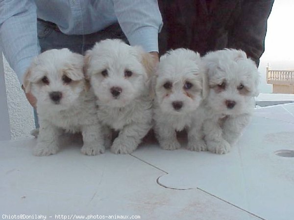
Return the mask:
[[[34,154],[56,154],[58,137],[82,132],[83,154],[105,151],[96,114],[95,95],[83,74],[83,56],[69,49],[52,49],[37,56],[25,73],[24,86],[37,99],[40,130]]]

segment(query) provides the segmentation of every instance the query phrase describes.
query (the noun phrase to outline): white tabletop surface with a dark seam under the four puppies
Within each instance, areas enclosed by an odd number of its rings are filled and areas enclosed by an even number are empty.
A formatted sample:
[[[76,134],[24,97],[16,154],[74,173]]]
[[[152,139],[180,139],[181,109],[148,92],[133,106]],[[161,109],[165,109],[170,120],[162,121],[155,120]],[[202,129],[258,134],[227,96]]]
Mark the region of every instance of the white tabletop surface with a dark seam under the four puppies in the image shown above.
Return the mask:
[[[132,155],[80,154],[74,141],[32,156],[34,139],[0,142],[3,214],[140,215],[146,220],[292,220],[294,104],[257,109],[229,154],[141,146]]]

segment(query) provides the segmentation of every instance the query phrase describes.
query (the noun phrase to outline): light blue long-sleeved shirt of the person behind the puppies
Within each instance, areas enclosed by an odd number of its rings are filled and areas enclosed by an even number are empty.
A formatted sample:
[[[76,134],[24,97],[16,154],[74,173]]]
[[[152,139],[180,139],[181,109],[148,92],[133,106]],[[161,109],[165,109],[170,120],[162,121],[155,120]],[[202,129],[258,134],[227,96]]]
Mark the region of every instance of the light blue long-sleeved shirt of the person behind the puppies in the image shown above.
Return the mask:
[[[37,17],[69,35],[94,33],[119,22],[131,45],[158,51],[162,18],[157,0],[0,0],[0,46],[20,82],[40,53]]]

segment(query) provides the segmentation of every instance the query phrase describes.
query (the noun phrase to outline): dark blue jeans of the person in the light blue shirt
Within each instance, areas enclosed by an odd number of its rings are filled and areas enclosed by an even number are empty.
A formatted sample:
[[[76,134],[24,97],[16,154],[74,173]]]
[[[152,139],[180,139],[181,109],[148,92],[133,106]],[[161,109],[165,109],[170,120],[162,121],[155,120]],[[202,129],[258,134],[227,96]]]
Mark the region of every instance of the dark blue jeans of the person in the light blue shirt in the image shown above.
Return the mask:
[[[49,22],[37,21],[38,39],[41,52],[49,49],[69,48],[71,51],[85,54],[96,42],[105,39],[122,39],[128,44],[119,25],[114,23],[104,30],[87,35],[66,35],[56,30],[56,26]],[[35,126],[39,128],[37,111],[34,109]]]

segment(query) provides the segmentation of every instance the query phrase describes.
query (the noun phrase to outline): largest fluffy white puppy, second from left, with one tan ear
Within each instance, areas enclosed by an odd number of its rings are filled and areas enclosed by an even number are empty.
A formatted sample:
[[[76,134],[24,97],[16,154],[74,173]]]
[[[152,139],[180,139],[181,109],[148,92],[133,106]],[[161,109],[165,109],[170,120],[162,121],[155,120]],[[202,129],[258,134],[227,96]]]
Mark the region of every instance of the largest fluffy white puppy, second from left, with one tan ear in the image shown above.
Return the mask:
[[[98,98],[103,131],[119,131],[111,145],[115,154],[132,153],[151,128],[154,61],[141,47],[117,39],[101,41],[86,53],[85,69]]]

